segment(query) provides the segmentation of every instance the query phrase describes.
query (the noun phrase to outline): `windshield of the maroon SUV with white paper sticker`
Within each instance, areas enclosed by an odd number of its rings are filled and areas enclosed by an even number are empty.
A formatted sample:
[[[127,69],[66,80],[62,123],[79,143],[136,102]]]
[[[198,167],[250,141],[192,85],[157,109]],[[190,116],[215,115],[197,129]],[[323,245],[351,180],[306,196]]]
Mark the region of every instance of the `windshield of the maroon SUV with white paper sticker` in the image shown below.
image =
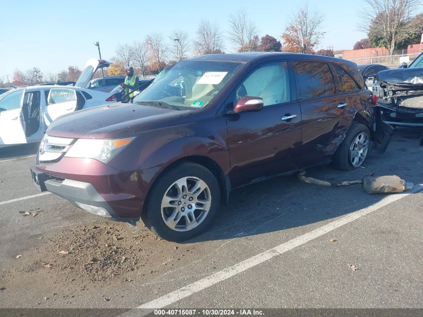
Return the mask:
[[[136,102],[161,101],[176,107],[202,108],[225,86],[242,64],[181,61],[161,74]],[[158,76],[159,77],[159,76]]]

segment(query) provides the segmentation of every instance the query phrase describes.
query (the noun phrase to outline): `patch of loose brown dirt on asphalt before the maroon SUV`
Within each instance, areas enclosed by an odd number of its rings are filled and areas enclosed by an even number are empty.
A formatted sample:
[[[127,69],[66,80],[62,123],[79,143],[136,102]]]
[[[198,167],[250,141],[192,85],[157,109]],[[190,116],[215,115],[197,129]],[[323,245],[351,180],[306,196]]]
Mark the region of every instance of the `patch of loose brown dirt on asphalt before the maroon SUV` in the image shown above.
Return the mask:
[[[43,237],[36,255],[18,272],[48,275],[57,282],[131,281],[183,262],[195,247],[163,240],[145,227],[98,223],[66,228]],[[180,262],[178,262],[180,263]]]

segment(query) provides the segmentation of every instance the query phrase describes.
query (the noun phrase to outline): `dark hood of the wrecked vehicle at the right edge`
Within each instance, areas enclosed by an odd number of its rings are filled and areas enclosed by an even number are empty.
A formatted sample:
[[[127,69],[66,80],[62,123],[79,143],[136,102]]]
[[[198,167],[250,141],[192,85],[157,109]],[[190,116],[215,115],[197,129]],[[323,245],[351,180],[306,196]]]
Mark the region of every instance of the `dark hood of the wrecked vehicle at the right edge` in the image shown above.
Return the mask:
[[[423,88],[423,68],[400,68],[377,73],[380,82],[407,88]]]

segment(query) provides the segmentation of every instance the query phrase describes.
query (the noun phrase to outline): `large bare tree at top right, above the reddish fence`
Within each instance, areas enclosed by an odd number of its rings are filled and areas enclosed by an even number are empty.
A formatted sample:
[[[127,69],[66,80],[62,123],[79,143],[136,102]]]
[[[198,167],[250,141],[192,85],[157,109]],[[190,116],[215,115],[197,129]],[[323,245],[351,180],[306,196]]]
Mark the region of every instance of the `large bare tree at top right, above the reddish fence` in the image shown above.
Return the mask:
[[[359,29],[380,37],[389,55],[398,41],[421,27],[408,23],[418,13],[421,0],[365,0],[365,4]]]

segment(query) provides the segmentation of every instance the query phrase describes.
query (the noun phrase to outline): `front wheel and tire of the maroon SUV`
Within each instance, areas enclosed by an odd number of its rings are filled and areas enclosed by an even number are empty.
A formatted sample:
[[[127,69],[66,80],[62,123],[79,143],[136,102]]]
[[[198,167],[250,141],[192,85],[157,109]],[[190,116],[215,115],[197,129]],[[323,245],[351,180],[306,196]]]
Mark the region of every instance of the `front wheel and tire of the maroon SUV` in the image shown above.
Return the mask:
[[[219,184],[212,172],[182,163],[159,176],[142,218],[157,235],[179,242],[206,231],[219,204]]]

